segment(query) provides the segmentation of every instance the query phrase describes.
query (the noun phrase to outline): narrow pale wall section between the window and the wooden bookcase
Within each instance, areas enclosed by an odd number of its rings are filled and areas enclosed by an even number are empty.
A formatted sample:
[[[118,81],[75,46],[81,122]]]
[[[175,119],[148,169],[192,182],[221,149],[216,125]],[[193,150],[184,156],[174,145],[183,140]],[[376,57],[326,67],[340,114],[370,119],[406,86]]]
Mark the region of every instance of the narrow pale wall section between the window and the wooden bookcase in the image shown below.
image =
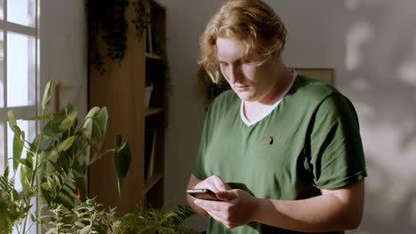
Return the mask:
[[[87,110],[85,1],[42,0],[40,8],[40,86],[60,83],[60,108],[77,106],[82,121]]]

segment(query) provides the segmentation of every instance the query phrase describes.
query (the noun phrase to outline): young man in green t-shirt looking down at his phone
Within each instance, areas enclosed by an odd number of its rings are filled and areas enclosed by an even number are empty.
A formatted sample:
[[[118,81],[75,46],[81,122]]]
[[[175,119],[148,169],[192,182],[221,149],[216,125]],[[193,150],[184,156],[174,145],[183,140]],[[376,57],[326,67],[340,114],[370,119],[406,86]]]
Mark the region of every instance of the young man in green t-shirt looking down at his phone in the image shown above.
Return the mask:
[[[201,65],[232,90],[209,108],[188,188],[220,201],[207,233],[343,233],[364,207],[364,152],[353,105],[282,61],[286,29],[260,0],[231,0],[201,36]]]

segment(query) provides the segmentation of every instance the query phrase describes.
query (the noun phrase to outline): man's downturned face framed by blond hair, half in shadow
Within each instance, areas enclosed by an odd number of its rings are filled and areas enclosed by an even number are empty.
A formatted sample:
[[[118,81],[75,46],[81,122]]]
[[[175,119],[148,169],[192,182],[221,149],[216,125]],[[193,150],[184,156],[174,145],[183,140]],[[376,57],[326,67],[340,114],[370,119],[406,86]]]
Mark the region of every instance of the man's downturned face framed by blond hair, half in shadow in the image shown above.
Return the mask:
[[[275,88],[275,57],[262,64],[249,63],[243,60],[243,43],[219,37],[216,45],[220,70],[239,98],[249,102],[261,101]]]

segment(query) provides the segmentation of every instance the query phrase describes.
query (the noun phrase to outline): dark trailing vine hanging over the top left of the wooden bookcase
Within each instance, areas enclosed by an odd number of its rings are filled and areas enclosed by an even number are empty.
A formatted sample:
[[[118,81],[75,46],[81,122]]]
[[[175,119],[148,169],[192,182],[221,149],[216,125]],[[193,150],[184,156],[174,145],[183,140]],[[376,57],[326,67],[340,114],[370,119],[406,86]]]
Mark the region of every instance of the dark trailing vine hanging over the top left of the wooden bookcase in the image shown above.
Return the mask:
[[[100,74],[106,72],[105,63],[120,61],[127,50],[128,21],[126,9],[129,0],[85,0],[88,19],[88,44],[90,63]],[[140,40],[143,29],[149,22],[148,0],[135,0],[132,3],[136,35]]]

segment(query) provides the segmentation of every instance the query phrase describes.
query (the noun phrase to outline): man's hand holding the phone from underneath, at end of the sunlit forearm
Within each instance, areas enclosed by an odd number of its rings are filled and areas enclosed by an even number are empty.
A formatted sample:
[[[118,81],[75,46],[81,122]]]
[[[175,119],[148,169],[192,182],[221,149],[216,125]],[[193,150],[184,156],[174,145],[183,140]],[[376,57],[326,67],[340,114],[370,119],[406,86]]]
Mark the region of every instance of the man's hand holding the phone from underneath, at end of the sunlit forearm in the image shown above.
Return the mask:
[[[195,204],[203,208],[228,229],[252,222],[257,211],[256,198],[242,190],[216,191],[221,201],[195,199]]]

